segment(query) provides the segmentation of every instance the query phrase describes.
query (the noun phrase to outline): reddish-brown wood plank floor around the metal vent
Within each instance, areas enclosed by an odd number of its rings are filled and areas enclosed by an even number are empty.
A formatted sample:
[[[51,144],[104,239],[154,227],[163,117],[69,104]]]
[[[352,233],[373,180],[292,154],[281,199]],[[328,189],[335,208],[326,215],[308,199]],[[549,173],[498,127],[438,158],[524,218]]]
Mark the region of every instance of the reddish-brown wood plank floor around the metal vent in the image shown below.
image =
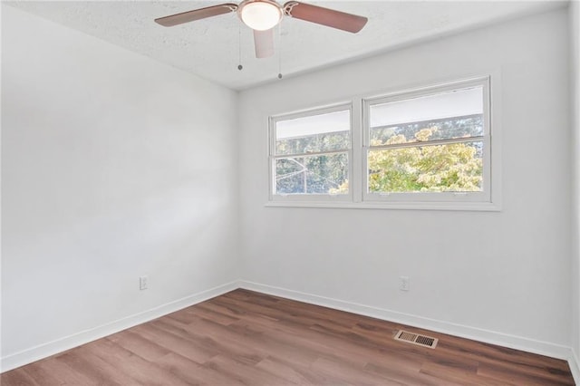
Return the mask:
[[[436,349],[392,339],[404,328]],[[11,385],[574,385],[565,361],[238,289],[5,372]]]

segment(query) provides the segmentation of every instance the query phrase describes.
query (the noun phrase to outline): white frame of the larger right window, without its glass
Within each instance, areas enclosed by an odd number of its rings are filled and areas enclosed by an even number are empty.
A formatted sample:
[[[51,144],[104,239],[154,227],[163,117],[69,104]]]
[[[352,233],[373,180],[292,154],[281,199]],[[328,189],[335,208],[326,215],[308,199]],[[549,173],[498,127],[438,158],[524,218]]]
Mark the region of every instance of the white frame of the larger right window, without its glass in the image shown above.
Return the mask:
[[[415,98],[436,95],[443,92],[468,89],[470,87],[481,87],[483,92],[483,136],[475,137],[473,140],[441,140],[440,144],[483,142],[483,181],[482,190],[478,192],[389,192],[372,193],[369,192],[368,155],[372,150],[386,150],[389,147],[371,146],[371,107],[372,105],[388,103],[393,101],[410,101]],[[449,203],[449,202],[469,202],[483,203],[491,202],[491,124],[490,124],[490,98],[489,98],[489,76],[469,79],[467,81],[451,82],[446,84],[433,85],[411,91],[393,92],[379,97],[365,98],[362,100],[362,201],[365,202],[396,202],[396,203]],[[410,148],[420,148],[434,146],[437,144],[429,141],[417,142]],[[394,147],[391,147],[393,149]]]

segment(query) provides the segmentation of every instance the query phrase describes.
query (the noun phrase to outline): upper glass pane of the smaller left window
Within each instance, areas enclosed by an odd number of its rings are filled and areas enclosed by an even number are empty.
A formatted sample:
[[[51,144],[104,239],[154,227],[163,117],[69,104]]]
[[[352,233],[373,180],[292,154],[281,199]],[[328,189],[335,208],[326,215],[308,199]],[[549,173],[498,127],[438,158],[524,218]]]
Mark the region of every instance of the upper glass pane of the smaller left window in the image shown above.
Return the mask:
[[[350,148],[351,111],[276,121],[275,154],[346,150]]]

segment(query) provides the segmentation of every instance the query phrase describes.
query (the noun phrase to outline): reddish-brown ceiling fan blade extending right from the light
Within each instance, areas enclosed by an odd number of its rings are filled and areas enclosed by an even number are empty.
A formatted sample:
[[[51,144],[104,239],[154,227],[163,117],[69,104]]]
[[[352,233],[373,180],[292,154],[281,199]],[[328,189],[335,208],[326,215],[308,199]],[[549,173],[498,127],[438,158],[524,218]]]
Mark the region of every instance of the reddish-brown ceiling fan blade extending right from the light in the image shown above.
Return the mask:
[[[362,30],[368,19],[356,14],[346,14],[317,5],[289,1],[284,5],[285,13],[295,19],[315,24],[323,24],[353,34]]]

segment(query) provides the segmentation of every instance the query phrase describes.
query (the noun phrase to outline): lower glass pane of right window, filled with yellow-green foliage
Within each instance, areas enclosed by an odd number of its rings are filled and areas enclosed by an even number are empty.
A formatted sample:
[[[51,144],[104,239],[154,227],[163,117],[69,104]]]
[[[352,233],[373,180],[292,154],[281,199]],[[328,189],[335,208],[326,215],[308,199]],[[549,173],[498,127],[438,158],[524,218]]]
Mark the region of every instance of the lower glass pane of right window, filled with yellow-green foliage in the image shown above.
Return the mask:
[[[369,150],[369,192],[482,191],[482,150],[482,141]]]

